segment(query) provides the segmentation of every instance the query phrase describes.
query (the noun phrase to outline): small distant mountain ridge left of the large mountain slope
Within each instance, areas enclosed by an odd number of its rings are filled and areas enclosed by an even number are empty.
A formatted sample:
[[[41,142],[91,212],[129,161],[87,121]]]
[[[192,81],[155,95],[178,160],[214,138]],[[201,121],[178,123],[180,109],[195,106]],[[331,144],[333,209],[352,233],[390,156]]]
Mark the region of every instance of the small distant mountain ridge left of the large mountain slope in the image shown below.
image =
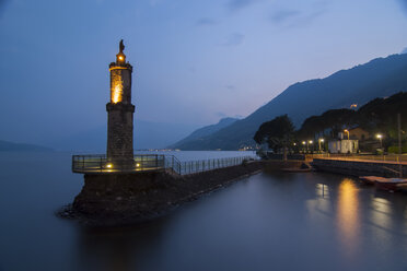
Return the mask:
[[[214,132],[234,123],[237,120],[239,119],[236,119],[236,118],[222,118],[221,120],[219,120],[218,123],[202,127],[202,128],[194,131],[191,134],[189,134],[185,139],[170,145],[168,148],[170,149],[189,149],[189,143],[190,142],[199,141],[202,138],[208,137],[208,136],[210,136],[210,134],[212,134],[212,133],[214,133]]]

